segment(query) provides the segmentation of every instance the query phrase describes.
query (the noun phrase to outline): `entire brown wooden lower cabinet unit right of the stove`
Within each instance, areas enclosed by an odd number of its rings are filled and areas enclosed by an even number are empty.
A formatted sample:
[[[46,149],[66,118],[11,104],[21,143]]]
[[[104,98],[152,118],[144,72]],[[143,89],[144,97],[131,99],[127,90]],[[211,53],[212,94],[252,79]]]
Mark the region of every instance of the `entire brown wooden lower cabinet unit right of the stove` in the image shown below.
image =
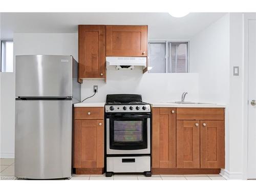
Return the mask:
[[[183,117],[179,113],[187,115]],[[213,114],[212,117],[210,114]],[[202,119],[192,120],[195,117]],[[223,119],[224,109],[197,108],[193,114],[191,108],[153,108],[153,174],[220,173],[220,168],[225,168]]]

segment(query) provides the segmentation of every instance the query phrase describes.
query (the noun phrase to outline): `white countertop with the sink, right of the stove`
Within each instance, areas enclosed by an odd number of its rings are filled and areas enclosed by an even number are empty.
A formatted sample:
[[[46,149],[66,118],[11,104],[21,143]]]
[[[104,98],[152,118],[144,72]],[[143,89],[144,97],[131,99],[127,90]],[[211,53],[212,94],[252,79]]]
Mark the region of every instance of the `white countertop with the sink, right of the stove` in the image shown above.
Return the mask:
[[[152,102],[153,108],[226,108],[225,104],[204,103],[204,104],[180,104],[171,102]]]

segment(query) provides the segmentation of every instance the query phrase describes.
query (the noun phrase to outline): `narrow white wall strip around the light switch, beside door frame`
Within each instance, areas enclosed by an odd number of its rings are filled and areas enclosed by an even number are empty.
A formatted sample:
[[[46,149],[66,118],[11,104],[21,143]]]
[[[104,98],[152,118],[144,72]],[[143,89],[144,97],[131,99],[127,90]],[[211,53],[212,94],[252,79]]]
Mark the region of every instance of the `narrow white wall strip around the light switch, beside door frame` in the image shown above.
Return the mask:
[[[229,175],[242,178],[243,168],[243,14],[230,13],[230,90],[229,90]],[[233,66],[240,75],[233,76]]]

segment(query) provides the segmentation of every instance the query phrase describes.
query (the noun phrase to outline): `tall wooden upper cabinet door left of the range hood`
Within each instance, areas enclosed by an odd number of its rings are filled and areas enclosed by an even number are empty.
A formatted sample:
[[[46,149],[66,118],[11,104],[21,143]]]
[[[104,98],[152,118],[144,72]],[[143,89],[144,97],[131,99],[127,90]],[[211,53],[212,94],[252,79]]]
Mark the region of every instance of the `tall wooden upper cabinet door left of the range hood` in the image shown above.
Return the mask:
[[[105,78],[105,26],[79,25],[79,78]]]

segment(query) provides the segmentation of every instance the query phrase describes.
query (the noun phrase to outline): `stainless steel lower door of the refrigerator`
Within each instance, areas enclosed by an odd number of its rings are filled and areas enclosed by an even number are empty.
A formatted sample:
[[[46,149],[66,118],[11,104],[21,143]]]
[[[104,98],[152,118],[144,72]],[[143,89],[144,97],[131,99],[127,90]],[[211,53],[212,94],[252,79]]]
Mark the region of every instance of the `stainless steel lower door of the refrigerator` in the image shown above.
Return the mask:
[[[16,100],[15,177],[71,177],[72,100]]]

